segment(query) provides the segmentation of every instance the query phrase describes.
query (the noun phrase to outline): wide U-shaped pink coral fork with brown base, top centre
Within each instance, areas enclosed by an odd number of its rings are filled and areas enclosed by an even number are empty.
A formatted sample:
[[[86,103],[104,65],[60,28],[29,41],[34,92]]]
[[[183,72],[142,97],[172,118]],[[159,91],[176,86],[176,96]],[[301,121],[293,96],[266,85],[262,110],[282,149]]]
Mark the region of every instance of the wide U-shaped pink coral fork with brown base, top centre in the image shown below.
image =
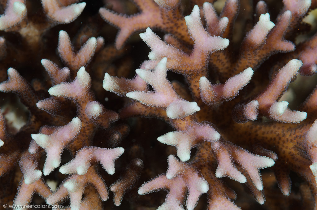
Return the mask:
[[[155,35],[150,28],[147,28],[145,33],[140,34],[140,37],[152,49],[149,53],[149,58],[155,60],[145,62],[146,69],[154,68],[158,60],[167,57],[168,69],[175,69],[183,74],[189,74],[191,71],[203,69],[210,53],[224,49],[229,45],[228,39],[211,36],[204,29],[197,5],[194,6],[191,15],[185,17],[185,21],[195,43],[190,55],[161,41],[159,36]]]

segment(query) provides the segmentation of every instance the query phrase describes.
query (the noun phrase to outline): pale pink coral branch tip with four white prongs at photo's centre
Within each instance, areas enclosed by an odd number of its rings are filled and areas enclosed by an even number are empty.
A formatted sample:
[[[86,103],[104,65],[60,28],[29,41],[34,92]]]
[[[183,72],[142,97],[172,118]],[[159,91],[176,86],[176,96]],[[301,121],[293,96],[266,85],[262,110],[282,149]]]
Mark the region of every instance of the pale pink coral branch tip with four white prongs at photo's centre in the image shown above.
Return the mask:
[[[143,69],[135,70],[136,73],[154,88],[153,92],[134,91],[126,96],[142,102],[148,106],[158,106],[166,109],[166,114],[171,119],[183,118],[200,110],[196,102],[181,99],[166,78],[166,57],[163,58],[154,71]]]

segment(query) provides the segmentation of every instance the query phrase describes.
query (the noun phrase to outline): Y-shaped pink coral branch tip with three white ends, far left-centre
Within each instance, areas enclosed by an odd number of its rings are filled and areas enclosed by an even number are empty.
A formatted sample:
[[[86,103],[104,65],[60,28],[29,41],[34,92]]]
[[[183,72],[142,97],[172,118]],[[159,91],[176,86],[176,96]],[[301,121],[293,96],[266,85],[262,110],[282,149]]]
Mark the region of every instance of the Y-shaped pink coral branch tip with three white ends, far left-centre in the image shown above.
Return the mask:
[[[57,128],[51,135],[32,134],[32,139],[45,149],[47,158],[43,168],[43,174],[46,176],[60,165],[61,153],[63,149],[73,141],[81,130],[81,120],[73,118],[67,125]]]

